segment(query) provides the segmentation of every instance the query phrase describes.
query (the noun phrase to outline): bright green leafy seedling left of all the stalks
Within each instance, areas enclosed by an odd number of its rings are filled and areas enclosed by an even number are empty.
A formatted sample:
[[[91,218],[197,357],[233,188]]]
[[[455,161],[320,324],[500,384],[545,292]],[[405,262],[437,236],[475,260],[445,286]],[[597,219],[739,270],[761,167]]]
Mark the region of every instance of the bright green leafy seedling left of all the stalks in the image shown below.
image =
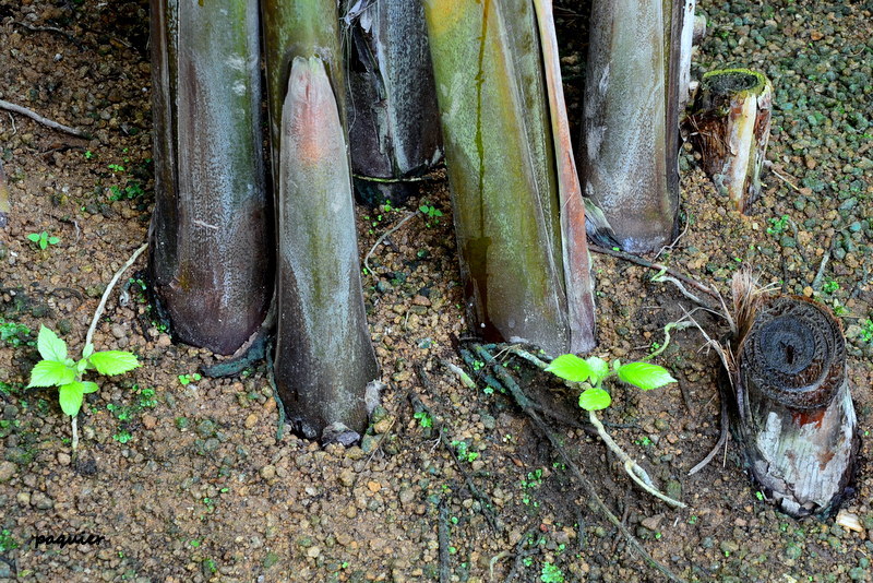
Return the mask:
[[[36,347],[43,360],[34,365],[31,370],[33,386],[57,386],[61,409],[70,417],[79,415],[85,393],[94,393],[99,386],[96,382],[82,380],[88,370],[96,370],[100,374],[123,374],[140,366],[136,357],[123,350],[94,352],[94,345],[88,343],[82,350],[79,361],[67,357],[67,343],[58,337],[50,329],[40,325]]]

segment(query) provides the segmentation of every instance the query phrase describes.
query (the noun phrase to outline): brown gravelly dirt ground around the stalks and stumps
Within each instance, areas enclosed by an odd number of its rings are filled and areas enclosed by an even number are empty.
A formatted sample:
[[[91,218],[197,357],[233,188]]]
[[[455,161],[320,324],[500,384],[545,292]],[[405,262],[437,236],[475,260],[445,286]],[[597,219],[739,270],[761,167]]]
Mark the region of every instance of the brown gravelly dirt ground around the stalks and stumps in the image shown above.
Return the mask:
[[[790,69],[779,79],[788,83],[805,75],[789,59],[830,26],[834,58],[860,62],[846,66],[849,78],[866,75],[844,100],[870,120],[871,5],[817,7],[798,12],[805,9],[777,2],[762,16],[774,24],[760,46],[793,51],[770,63]],[[713,29],[695,68],[708,69],[719,51],[737,59],[737,38],[766,8],[704,2]],[[528,416],[489,388],[488,367],[463,360],[458,348],[467,345],[458,338],[469,332],[443,181],[406,209],[358,210],[361,257],[420,204],[443,213],[407,221],[369,258],[364,295],[387,389],[359,447],[322,448],[287,429],[277,436],[263,365],[234,379],[194,377],[216,358],[174,344],[153,321],[147,283],[135,275],[141,259],[112,294],[95,344],[132,350],[143,366],[99,379],[79,416],[79,459],[71,459],[57,392],[24,385],[39,358],[39,325],[58,331],[77,355],[105,286],[146,238],[154,201],[147,9],[128,0],[0,0],[0,98],[94,135],[79,139],[0,111],[11,194],[9,224],[0,228],[0,581],[662,581]],[[573,117],[584,47],[572,33],[583,19],[559,9]],[[779,176],[765,174],[750,216],[727,210],[684,153],[687,229],[659,261],[722,293],[733,272],[751,266],[763,283],[840,312],[862,433],[856,493],[845,508],[861,532],[775,511],[746,478],[732,442],[689,476],[720,430],[718,359],[694,330],[675,332],[656,360],[679,383],[646,393],[614,386],[602,415],[619,444],[685,510],[631,484],[581,424],[577,395],[517,357],[500,357],[538,402],[562,412],[567,423],[550,421],[551,431],[612,512],[687,581],[873,580],[873,140],[866,126],[849,141],[836,115],[818,120],[800,109],[776,114],[768,157]],[[828,150],[823,132],[841,141]],[[27,238],[41,233],[58,241],[40,249]],[[833,259],[816,281],[826,253]],[[663,326],[693,308],[674,286],[653,283],[650,270],[605,255],[594,255],[594,267],[598,356],[646,357],[665,342]],[[716,317],[699,313],[698,321],[716,337],[726,333]],[[465,388],[449,365],[465,368],[477,389]],[[82,538],[74,544],[57,539],[75,534]],[[48,536],[56,539],[37,539]]]

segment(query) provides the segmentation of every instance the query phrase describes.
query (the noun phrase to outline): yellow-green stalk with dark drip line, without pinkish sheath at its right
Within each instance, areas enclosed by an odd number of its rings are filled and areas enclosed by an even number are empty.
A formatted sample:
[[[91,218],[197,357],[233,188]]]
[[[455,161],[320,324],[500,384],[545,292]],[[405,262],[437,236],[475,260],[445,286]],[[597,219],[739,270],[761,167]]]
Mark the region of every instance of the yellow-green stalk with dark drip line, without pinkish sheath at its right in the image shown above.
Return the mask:
[[[529,0],[426,0],[466,295],[489,341],[569,350],[555,163]]]

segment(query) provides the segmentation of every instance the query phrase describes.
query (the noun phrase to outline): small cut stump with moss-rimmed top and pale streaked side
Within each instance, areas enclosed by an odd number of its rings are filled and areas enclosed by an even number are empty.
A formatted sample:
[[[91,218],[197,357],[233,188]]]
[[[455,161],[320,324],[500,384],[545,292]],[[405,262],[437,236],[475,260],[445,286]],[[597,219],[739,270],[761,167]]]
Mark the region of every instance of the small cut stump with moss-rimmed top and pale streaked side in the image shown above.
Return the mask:
[[[703,75],[691,138],[706,172],[737,210],[745,213],[761,192],[761,167],[770,135],[773,85],[749,69]]]

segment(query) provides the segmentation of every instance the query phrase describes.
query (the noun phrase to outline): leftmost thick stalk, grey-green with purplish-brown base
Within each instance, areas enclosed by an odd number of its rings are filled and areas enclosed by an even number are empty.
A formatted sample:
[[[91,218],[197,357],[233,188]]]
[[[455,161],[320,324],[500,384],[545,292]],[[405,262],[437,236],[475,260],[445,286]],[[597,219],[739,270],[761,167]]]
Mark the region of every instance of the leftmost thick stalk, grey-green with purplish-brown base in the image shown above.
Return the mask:
[[[153,0],[154,289],[178,340],[229,354],[270,300],[258,9]]]

